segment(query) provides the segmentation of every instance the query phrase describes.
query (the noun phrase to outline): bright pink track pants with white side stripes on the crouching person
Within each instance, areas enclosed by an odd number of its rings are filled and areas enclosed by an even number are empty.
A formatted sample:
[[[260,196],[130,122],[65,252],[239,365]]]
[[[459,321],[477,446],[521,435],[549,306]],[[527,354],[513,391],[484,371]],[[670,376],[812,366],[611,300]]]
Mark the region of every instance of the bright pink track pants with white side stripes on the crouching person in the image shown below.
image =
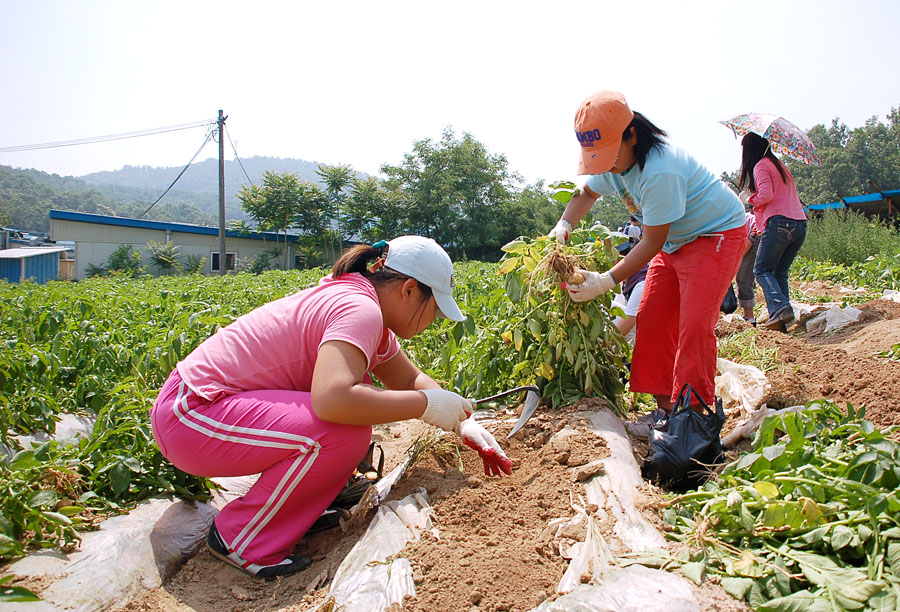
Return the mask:
[[[244,559],[291,554],[365,456],[372,428],[319,420],[310,394],[246,391],[207,401],[174,370],[150,412],[153,437],[175,467],[197,476],[261,474],[216,527]]]

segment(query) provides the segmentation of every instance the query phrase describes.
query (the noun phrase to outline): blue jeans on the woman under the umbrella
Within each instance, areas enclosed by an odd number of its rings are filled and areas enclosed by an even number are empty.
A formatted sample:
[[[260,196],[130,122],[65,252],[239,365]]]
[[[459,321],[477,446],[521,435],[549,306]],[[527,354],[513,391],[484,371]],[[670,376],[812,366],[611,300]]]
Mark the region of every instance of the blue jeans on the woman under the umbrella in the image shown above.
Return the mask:
[[[766,222],[753,264],[753,275],[766,296],[769,317],[791,306],[788,270],[805,239],[806,219],[775,215]]]

